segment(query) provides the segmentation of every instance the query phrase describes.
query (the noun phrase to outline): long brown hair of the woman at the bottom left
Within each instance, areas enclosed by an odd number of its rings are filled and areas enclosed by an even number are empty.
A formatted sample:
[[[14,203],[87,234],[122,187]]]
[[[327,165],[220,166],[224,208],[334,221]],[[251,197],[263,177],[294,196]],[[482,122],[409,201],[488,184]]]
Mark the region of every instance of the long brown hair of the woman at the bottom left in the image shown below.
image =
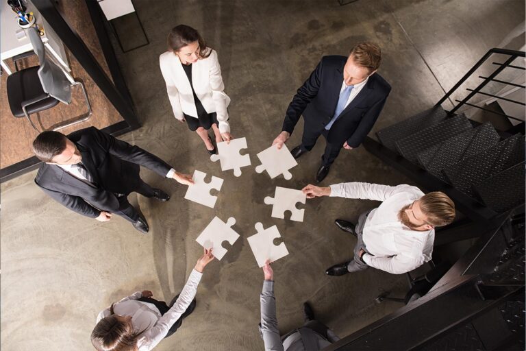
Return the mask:
[[[114,314],[113,304],[108,317],[97,323],[91,333],[91,343],[97,350],[138,351],[137,339],[140,333],[134,332],[132,321],[119,321]]]

